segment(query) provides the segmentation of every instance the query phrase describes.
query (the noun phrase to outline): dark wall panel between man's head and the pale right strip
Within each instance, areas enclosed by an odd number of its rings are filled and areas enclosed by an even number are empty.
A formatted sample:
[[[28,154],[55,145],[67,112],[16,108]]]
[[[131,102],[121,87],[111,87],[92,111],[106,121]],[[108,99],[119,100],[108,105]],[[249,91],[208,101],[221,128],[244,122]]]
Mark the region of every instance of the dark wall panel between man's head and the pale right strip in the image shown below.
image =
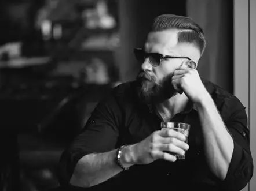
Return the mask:
[[[200,77],[233,93],[233,1],[188,0],[187,16],[203,28],[207,46],[200,58]]]

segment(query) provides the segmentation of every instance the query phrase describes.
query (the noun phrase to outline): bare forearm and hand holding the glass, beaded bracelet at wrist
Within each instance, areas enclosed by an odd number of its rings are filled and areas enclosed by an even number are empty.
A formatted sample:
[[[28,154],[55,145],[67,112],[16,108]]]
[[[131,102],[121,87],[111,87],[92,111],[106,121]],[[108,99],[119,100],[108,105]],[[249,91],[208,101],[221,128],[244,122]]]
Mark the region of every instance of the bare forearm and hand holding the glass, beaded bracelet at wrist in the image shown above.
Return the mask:
[[[183,155],[188,150],[184,142],[185,136],[173,130],[159,130],[145,138],[140,143],[127,145],[122,149],[120,163],[124,167],[134,164],[149,164],[157,159],[174,162],[174,155],[163,151],[170,151]],[[83,156],[76,164],[70,184],[79,187],[91,187],[107,181],[122,171],[116,161],[118,149],[105,153]]]

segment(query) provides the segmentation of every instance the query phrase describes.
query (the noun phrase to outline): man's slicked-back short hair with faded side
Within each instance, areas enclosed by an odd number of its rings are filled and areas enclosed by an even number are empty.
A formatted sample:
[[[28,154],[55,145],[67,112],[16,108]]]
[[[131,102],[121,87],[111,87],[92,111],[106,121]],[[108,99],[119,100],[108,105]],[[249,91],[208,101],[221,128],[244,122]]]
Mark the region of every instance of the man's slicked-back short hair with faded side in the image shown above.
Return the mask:
[[[198,46],[200,55],[203,54],[206,47],[203,29],[189,17],[162,14],[153,21],[151,32],[164,31],[171,28],[178,29],[178,42],[193,43]]]

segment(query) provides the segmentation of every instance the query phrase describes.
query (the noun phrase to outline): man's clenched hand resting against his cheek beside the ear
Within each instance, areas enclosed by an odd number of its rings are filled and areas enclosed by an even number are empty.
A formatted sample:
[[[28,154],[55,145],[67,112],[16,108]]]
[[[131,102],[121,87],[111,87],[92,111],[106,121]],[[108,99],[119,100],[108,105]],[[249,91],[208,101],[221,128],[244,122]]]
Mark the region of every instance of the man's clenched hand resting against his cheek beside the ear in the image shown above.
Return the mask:
[[[178,93],[184,92],[192,102],[198,103],[209,96],[196,69],[181,65],[174,71],[172,83]]]

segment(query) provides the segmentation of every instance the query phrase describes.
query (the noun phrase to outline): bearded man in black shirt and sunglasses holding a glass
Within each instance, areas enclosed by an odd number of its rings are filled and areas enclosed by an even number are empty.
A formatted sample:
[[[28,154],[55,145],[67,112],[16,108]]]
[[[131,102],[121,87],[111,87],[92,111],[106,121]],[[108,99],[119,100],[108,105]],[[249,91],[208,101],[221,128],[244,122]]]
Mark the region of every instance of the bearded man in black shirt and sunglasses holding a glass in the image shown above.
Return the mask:
[[[60,160],[60,182],[101,190],[240,190],[253,175],[239,99],[196,70],[206,42],[191,18],[155,18],[136,81],[101,101]],[[161,121],[191,124],[188,142]],[[169,152],[166,152],[169,151]],[[175,154],[184,155],[177,160]],[[172,153],[172,154],[171,154]]]

